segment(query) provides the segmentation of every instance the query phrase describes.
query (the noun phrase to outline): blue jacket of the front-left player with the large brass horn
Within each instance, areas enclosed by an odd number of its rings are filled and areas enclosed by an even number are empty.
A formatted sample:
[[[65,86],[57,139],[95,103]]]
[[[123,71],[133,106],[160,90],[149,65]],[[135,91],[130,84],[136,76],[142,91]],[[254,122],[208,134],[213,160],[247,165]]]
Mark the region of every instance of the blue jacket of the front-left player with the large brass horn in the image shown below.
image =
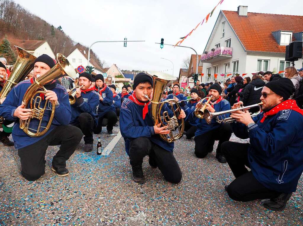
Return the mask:
[[[56,126],[59,125],[68,125],[71,120],[71,106],[68,100],[68,93],[64,86],[60,84],[55,84],[55,88],[50,90],[54,91],[57,94],[59,105],[55,108],[55,116],[52,121],[52,125],[50,129],[45,133],[45,135],[40,137],[30,137],[23,132],[22,129],[19,128],[19,119],[13,117],[13,114],[18,106],[22,104],[22,99],[27,91],[28,87],[31,85],[30,80],[25,80],[17,85],[15,85],[12,90],[8,93],[4,102],[0,105],[0,115],[9,121],[15,121],[15,125],[12,131],[12,137],[15,143],[15,148],[20,149],[24,148],[28,145],[34,144],[47,136]],[[51,102],[48,102],[47,109],[52,109]],[[40,106],[44,106],[45,100],[42,100]],[[27,107],[29,108],[29,107]],[[45,110],[45,114],[42,120],[41,126],[45,126],[49,121],[51,111]],[[38,127],[38,119],[31,119],[30,128],[37,129]],[[44,129],[44,128],[42,128]]]

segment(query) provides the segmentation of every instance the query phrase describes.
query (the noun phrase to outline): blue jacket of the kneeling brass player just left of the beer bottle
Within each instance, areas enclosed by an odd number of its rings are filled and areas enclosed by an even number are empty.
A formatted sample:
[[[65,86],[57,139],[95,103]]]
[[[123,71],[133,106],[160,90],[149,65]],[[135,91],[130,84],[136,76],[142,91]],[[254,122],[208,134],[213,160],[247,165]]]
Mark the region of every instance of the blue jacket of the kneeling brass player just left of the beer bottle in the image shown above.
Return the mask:
[[[99,95],[96,91],[82,92],[79,98],[76,98],[76,103],[71,105],[72,108],[72,118],[71,124],[78,122],[78,116],[81,113],[90,114],[94,121],[95,125],[98,123],[98,116],[96,113],[96,108],[99,104]]]

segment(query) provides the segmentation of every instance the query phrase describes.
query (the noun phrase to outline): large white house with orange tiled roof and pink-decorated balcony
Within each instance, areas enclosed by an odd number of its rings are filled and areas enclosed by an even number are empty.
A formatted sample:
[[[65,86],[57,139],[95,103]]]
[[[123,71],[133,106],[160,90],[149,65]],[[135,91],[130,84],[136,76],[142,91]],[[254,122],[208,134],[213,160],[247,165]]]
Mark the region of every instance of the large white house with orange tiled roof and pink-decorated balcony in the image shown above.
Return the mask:
[[[303,16],[250,13],[247,6],[220,11],[199,62],[202,82],[214,81],[215,74],[224,82],[228,74],[247,74],[245,78],[259,71],[284,71],[291,65],[285,62],[285,46],[302,41],[302,24]],[[297,69],[302,66],[302,59],[295,61]]]

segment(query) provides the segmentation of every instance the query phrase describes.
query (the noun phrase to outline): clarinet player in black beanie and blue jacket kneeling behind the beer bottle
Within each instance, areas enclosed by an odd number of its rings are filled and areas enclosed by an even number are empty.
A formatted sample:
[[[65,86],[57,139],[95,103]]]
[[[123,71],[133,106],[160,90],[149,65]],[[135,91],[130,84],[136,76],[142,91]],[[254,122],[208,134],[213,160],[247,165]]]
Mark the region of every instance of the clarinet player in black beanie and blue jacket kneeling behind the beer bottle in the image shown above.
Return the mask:
[[[98,106],[98,125],[94,129],[95,134],[99,134],[102,131],[103,119],[108,119],[106,126],[107,133],[113,134],[113,126],[117,122],[116,108],[113,104],[113,93],[112,90],[104,84],[103,75],[98,74],[95,77],[96,85],[95,91],[99,95],[99,106]]]

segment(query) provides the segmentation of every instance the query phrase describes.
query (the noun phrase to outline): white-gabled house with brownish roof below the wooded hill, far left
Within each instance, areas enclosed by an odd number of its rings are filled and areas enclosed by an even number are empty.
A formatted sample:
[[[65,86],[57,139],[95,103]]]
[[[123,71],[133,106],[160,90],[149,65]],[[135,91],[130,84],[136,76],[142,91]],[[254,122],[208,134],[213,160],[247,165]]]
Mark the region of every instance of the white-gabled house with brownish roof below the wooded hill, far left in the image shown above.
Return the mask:
[[[10,40],[10,43],[12,46],[18,46],[25,49],[36,57],[41,56],[42,54],[47,54],[55,59],[55,54],[47,41],[13,39]],[[12,49],[15,50],[14,47],[12,47]]]

